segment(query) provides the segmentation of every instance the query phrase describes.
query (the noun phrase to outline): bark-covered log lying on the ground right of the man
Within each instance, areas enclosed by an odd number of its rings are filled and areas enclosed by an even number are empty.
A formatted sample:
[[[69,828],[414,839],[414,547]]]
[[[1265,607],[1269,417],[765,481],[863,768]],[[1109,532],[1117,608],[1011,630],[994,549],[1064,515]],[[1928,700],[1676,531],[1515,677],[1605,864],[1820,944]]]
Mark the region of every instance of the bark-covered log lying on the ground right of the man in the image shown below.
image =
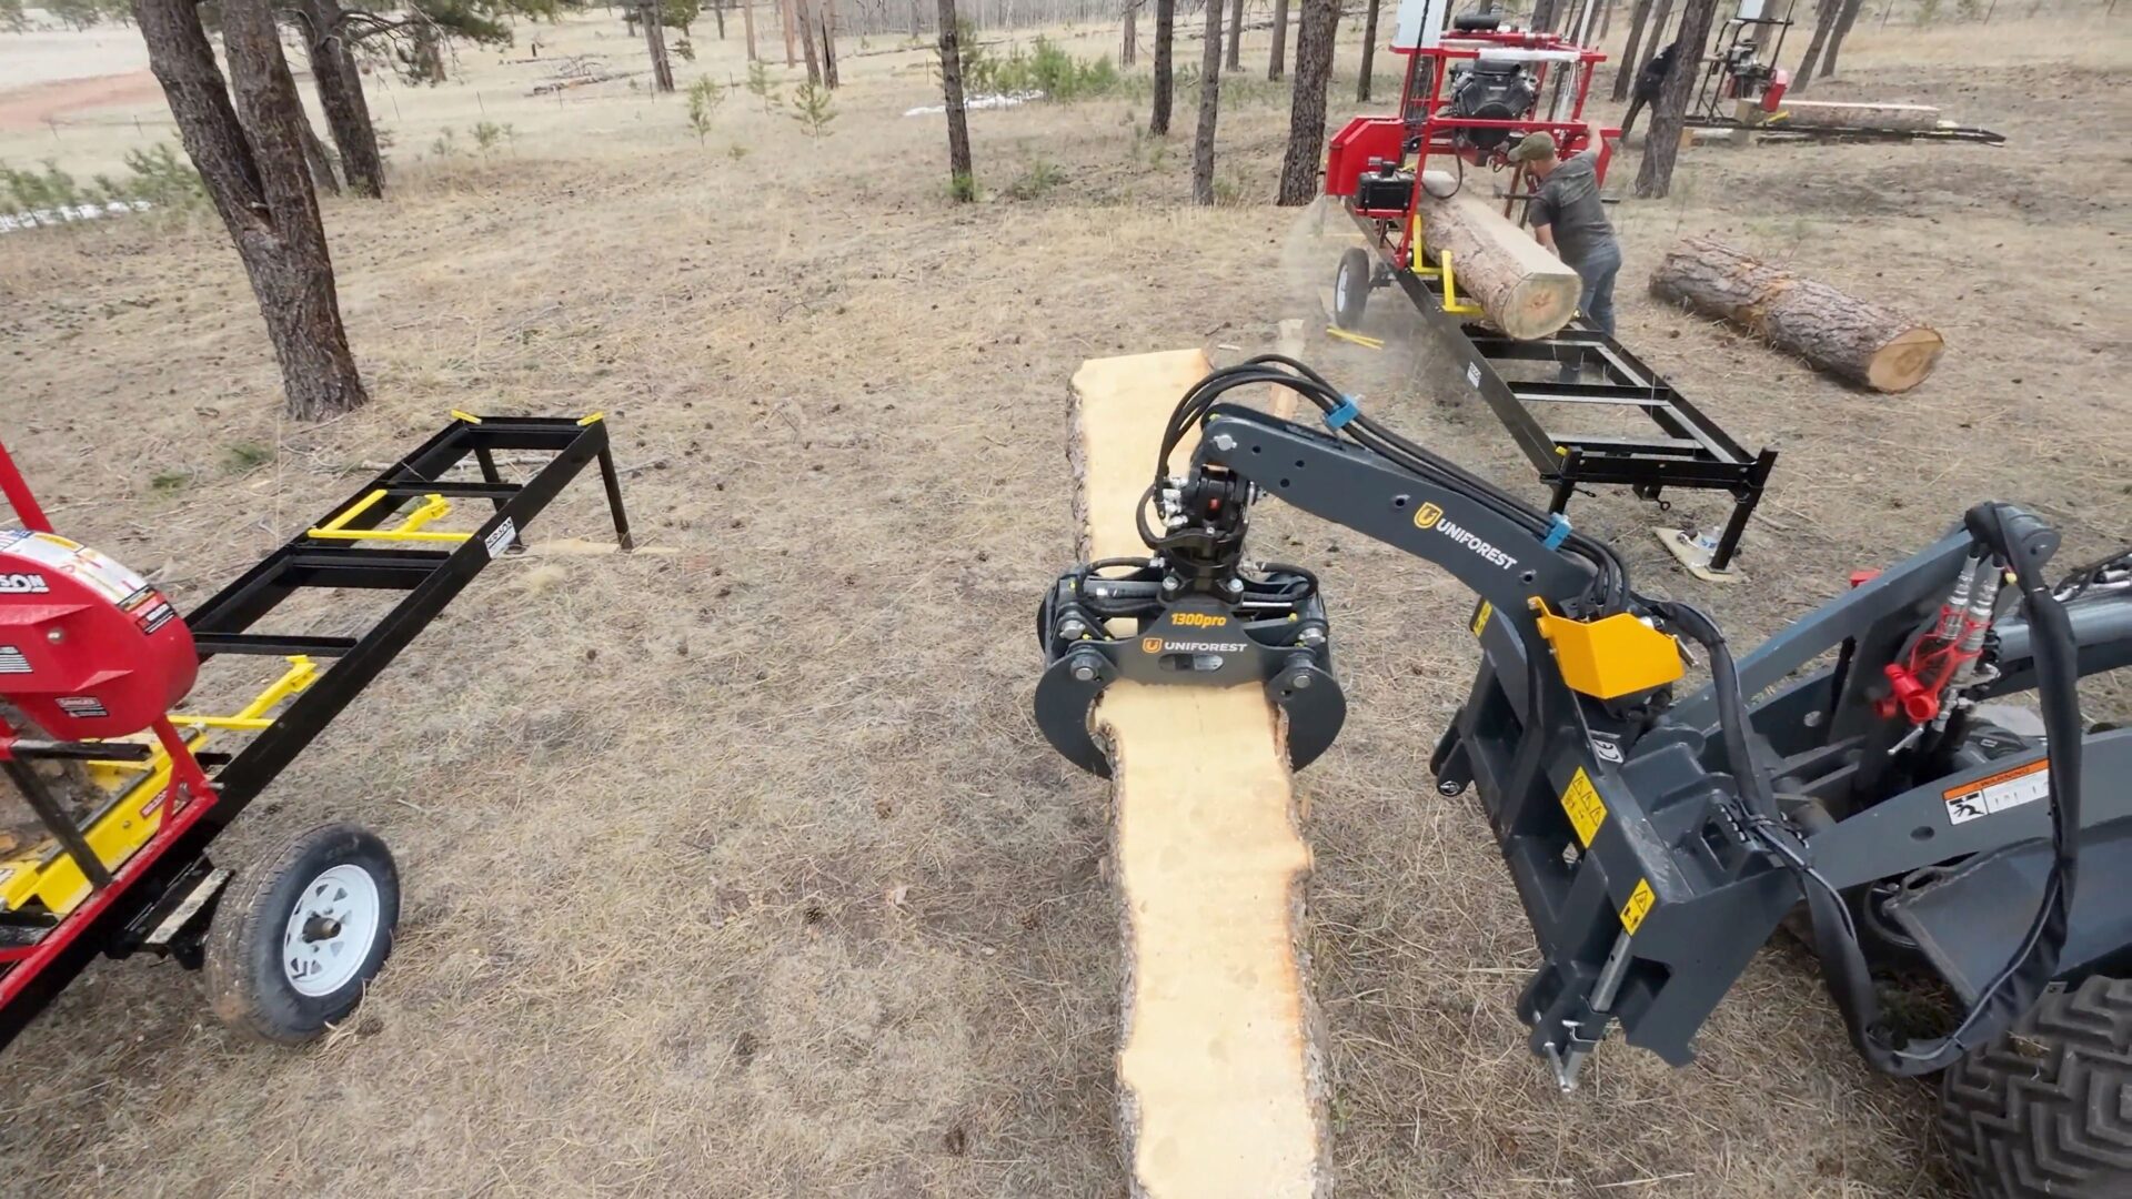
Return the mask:
[[[1710,237],[1676,245],[1650,273],[1650,292],[1729,320],[1874,390],[1910,390],[1925,382],[1947,348],[1929,326]]]

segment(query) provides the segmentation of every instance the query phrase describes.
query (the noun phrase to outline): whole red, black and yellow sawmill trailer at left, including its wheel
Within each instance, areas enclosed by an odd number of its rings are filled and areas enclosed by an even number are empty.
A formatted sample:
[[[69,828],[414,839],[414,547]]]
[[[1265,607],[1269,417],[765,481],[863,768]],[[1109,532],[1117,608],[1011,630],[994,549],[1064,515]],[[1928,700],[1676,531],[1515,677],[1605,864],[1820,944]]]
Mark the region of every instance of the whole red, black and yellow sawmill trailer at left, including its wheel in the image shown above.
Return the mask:
[[[0,529],[0,770],[36,817],[0,851],[0,1045],[96,954],[205,966],[215,1013],[269,1041],[316,1037],[362,998],[399,917],[386,845],[324,824],[243,873],[209,845],[591,463],[629,548],[597,414],[452,416],[185,617],[58,535],[0,446],[21,525]],[[499,457],[531,474],[507,482]],[[480,527],[439,527],[454,499]],[[256,632],[298,593],[345,591],[397,600],[358,636]],[[281,664],[252,702],[179,710],[203,666],[260,657]]]

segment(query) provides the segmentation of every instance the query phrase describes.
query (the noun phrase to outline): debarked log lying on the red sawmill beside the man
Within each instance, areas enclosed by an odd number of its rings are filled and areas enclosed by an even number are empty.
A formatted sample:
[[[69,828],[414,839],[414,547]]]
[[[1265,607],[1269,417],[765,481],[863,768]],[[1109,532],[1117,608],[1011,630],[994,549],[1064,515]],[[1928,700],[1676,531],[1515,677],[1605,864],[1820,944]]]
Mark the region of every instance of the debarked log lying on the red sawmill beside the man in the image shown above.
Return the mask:
[[[1452,277],[1463,299],[1480,303],[1488,322],[1509,337],[1548,337],[1578,314],[1582,282],[1567,262],[1533,241],[1486,196],[1456,190],[1435,171],[1422,181],[1422,241],[1441,262],[1452,256]]]

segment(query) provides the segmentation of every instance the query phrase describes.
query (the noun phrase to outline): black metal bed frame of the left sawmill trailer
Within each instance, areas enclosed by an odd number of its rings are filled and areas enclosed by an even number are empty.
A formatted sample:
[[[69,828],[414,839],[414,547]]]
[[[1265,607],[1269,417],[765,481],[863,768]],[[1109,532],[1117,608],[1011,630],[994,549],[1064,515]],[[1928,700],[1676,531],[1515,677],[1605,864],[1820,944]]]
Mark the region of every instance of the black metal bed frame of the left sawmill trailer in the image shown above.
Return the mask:
[[[505,482],[497,454],[507,450],[552,452],[527,482]],[[480,482],[446,480],[452,467],[471,459]],[[213,838],[256,800],[294,757],[318,738],[377,674],[501,553],[522,548],[520,533],[586,465],[597,463],[623,550],[631,548],[623,508],[620,476],[599,414],[586,418],[467,416],[384,469],[333,510],[326,521],[273,550],[258,565],[188,614],[200,664],[217,655],[305,655],[330,659],[313,683],[237,753],[198,753],[194,760],[211,783],[207,794],[185,796],[171,783],[162,828],[124,862],[104,868],[81,858],[81,830],[102,817],[111,798],[90,821],[70,821],[49,794],[36,802],[41,785],[28,770],[26,796],[60,841],[51,856],[70,853],[90,877],[92,892],[64,915],[0,913],[0,1048],[11,1043],[98,954],[126,958],[156,952],[198,966],[200,939],[220,900],[228,870],[215,870],[207,856]],[[478,531],[394,533],[388,523],[403,516],[409,501],[424,497],[486,499],[495,512]],[[414,542],[426,538],[426,542]],[[367,548],[360,540],[401,540],[443,548]],[[307,589],[399,591],[401,597],[360,636],[284,636],[252,632],[284,600]],[[130,742],[30,742],[11,747],[13,757],[147,757],[147,747]],[[9,766],[19,766],[11,762]],[[58,828],[66,824],[66,828]],[[70,849],[77,847],[77,849]],[[51,860],[51,858],[47,858]]]

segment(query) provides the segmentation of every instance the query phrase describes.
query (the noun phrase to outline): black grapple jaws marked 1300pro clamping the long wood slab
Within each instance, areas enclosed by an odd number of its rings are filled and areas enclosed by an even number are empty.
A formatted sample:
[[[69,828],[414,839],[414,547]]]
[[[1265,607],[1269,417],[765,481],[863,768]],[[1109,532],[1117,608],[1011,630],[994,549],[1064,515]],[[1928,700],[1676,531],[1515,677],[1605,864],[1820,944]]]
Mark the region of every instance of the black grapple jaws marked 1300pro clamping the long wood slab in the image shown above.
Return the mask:
[[[1315,762],[1347,719],[1347,700],[1332,678],[1324,600],[1303,570],[1269,565],[1260,578],[1237,572],[1211,589],[1194,589],[1160,557],[1083,565],[1045,595],[1036,638],[1045,646],[1036,728],[1089,774],[1111,774],[1089,713],[1119,678],[1160,687],[1262,685],[1288,717],[1288,760],[1296,770]]]

